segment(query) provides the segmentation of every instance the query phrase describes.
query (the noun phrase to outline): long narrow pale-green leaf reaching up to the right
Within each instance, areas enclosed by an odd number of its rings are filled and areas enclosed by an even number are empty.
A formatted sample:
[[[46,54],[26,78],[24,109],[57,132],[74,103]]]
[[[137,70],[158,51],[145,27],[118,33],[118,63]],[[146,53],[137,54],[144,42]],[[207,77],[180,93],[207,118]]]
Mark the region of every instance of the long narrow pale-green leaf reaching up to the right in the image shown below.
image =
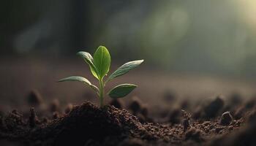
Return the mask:
[[[134,69],[135,67],[139,66],[143,63],[144,60],[138,60],[138,61],[130,61],[126,64],[123,64],[118,69],[116,69],[115,72],[113,72],[110,77],[108,77],[108,81],[112,80],[115,77],[121,76],[129,72],[129,70]]]

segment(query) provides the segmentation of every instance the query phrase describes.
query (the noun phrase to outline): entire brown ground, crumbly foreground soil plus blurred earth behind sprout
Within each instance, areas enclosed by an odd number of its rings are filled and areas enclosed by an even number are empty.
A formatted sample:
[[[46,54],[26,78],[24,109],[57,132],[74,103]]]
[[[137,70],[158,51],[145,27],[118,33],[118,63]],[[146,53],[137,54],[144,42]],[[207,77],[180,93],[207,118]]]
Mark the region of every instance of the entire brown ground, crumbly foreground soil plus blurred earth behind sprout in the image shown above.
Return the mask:
[[[55,82],[69,75],[94,82],[80,59],[2,58],[0,65],[0,145],[255,145],[252,80],[146,67],[110,82],[139,87],[121,101],[106,98],[118,108],[100,109],[89,88]]]

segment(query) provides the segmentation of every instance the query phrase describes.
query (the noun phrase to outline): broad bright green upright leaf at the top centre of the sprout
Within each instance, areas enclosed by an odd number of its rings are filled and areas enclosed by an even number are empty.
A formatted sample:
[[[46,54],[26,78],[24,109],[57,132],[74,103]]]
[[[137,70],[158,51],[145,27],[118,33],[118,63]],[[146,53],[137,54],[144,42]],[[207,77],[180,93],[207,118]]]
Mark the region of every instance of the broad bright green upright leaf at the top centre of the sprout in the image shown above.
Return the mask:
[[[108,49],[104,46],[99,46],[94,53],[94,65],[98,71],[98,77],[100,80],[108,73],[110,68],[110,53]]]

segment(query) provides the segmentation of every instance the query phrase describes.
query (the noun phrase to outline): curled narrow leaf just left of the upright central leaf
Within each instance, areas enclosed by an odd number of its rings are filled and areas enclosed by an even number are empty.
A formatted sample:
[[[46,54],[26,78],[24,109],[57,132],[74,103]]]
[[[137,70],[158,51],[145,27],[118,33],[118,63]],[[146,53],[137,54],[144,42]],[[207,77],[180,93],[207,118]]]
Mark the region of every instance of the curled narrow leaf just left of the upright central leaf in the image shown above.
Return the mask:
[[[77,55],[79,55],[81,58],[83,58],[84,61],[86,61],[87,64],[89,64],[89,67],[90,67],[90,70],[91,70],[91,74],[93,74],[94,77],[99,79],[99,77],[97,75],[97,69],[94,66],[94,58],[92,58],[91,54],[83,52],[83,51],[80,51],[80,52],[77,53]]]

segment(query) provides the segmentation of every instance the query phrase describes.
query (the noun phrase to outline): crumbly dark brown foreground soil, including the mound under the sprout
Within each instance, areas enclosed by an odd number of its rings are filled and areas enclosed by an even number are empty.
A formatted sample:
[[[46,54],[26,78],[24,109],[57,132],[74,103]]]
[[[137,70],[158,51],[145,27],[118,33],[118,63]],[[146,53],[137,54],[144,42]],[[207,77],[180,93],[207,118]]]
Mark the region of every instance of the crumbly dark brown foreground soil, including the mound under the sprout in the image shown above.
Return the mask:
[[[219,100],[217,98],[217,100]],[[217,103],[211,102],[211,106]],[[135,102],[135,101],[132,101]],[[138,102],[138,101],[136,101]],[[219,102],[219,101],[218,101]],[[138,102],[139,103],[139,102]],[[137,103],[137,104],[138,104]],[[132,103],[134,104],[134,103]],[[140,106],[136,106],[140,107]],[[37,117],[31,108],[29,118],[13,110],[0,118],[1,145],[254,145],[255,112],[234,120],[230,112],[211,120],[194,120],[184,110],[174,110],[167,123],[143,123],[127,110],[113,106],[99,108],[89,101],[68,105],[65,114],[55,118]],[[133,109],[131,109],[133,110]],[[136,110],[137,112],[139,110]],[[176,114],[178,111],[179,114]],[[205,111],[205,110],[203,110]],[[216,110],[218,112],[218,110]],[[252,110],[251,110],[252,111]],[[134,111],[133,111],[134,112]],[[56,113],[56,112],[54,112]],[[140,113],[138,113],[140,115]],[[179,116],[181,115],[181,117]],[[213,114],[214,115],[214,114]],[[202,118],[206,118],[204,115]],[[168,121],[168,120],[167,120]],[[231,140],[232,139],[232,140]]]

